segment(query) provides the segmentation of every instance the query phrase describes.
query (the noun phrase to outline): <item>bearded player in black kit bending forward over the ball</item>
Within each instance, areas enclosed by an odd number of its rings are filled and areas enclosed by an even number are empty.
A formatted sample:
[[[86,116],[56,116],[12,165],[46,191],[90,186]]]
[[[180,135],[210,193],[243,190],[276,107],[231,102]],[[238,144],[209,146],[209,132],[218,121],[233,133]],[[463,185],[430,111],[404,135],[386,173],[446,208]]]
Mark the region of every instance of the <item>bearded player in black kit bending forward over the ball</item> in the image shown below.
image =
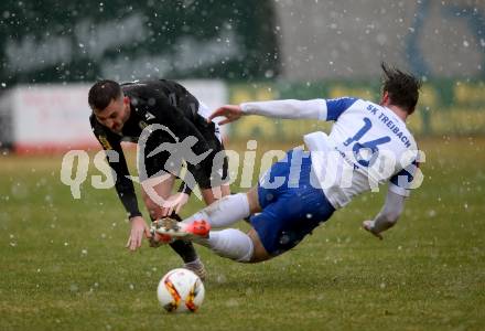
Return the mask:
[[[186,177],[179,193],[171,193],[174,181],[180,175],[180,169],[174,168],[176,164],[173,164],[171,158],[174,152],[180,152],[175,142],[188,142],[185,145],[190,146],[188,156],[200,157],[192,163],[193,160],[185,160],[186,173],[201,188],[206,204],[229,194],[229,186],[226,184],[227,159],[218,126],[207,122],[208,109],[182,85],[165,79],[119,85],[105,79],[89,89],[88,103],[93,109],[89,118],[93,132],[107,151],[108,162],[116,172],[116,191],[129,214],[131,232],[127,247],[130,250],[141,246],[143,234],[148,238],[152,238],[152,234],[138,209],[121,141],[144,145],[143,156],[139,154],[139,166],[140,161],[144,166],[144,169],[139,167],[139,171],[144,173],[139,177],[143,202],[152,221],[163,216],[177,217],[175,213],[187,202],[193,189],[193,183],[191,185]],[[146,128],[149,131],[143,130]],[[139,141],[140,136],[142,141]],[[161,146],[172,146],[172,149],[160,151]],[[205,276],[204,265],[192,243],[179,239],[170,245],[182,257],[186,268]]]

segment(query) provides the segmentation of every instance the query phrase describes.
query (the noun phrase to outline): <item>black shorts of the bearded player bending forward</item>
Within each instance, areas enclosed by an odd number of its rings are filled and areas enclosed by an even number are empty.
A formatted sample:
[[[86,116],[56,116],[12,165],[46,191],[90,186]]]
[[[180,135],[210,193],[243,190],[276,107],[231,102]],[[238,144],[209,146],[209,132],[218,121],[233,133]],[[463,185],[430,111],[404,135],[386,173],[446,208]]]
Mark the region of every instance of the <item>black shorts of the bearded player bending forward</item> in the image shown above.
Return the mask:
[[[214,122],[207,124],[202,116],[197,116],[194,120],[194,125],[197,130],[204,137],[205,142],[212,150],[211,153],[204,159],[204,162],[193,164],[185,161],[187,171],[193,175],[195,182],[201,189],[211,189],[220,186],[229,181],[228,178],[228,161],[224,152],[224,145],[219,140],[218,127]],[[160,132],[157,137],[150,137],[147,141],[147,150],[144,152],[144,168],[147,170],[148,178],[160,175],[170,172],[176,177],[182,171],[182,162],[175,164],[168,164],[173,151],[162,150],[154,156],[149,157],[150,151],[158,148],[163,142],[174,143],[174,139],[166,132]],[[208,161],[208,162],[207,162]],[[207,167],[211,166],[211,167]]]

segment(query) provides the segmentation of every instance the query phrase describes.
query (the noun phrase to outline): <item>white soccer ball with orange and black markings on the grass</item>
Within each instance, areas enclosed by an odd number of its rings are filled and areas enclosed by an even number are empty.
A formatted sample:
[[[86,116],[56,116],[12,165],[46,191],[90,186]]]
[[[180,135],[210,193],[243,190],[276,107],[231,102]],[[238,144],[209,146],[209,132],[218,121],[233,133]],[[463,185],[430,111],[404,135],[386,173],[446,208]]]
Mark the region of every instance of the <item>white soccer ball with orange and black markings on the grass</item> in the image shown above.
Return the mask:
[[[194,312],[204,301],[204,295],[201,278],[183,268],[166,273],[157,289],[157,298],[169,312]]]

